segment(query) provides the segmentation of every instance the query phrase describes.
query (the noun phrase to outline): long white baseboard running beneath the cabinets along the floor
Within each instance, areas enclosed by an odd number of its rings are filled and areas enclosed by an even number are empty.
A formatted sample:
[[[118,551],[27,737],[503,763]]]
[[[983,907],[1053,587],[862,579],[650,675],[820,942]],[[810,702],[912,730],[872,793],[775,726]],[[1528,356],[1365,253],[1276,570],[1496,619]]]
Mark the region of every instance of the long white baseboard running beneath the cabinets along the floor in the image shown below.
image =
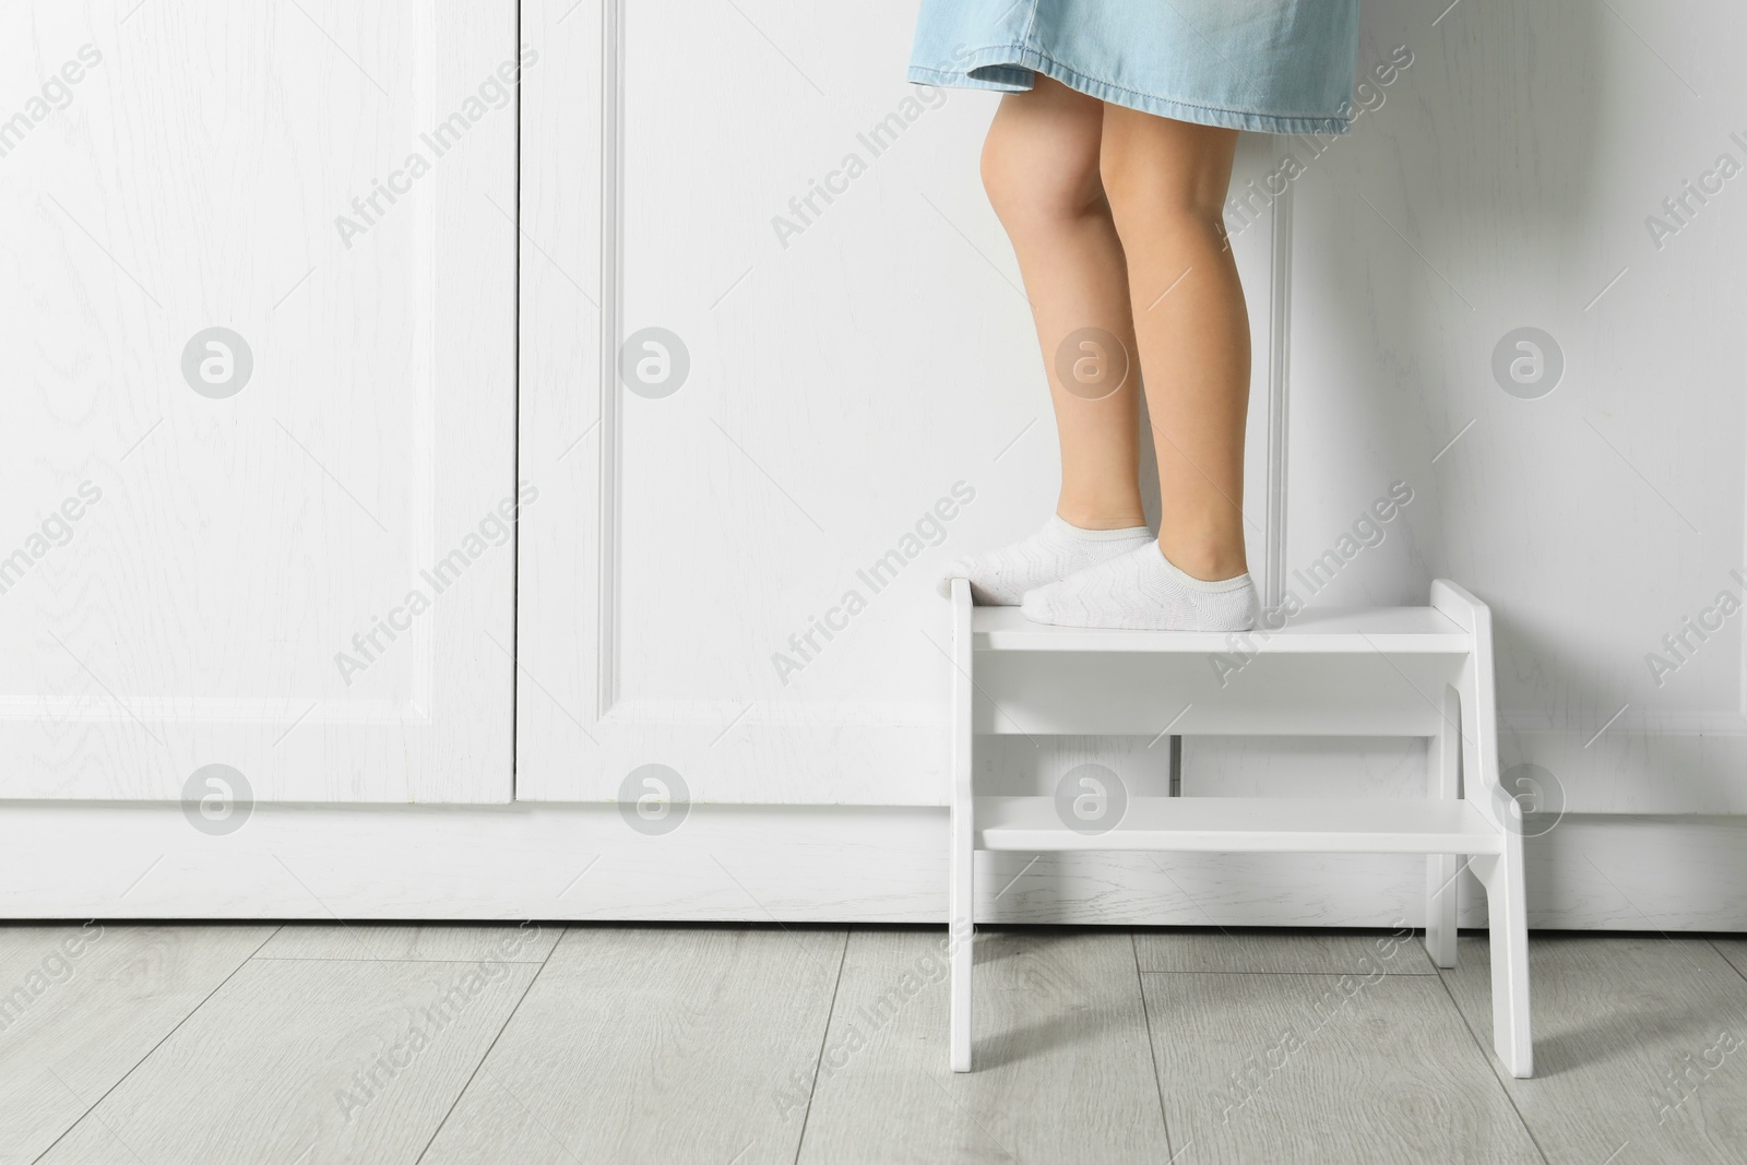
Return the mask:
[[[945,810],[694,805],[666,837],[613,805],[0,807],[3,919],[943,922]],[[1527,838],[1529,924],[1747,931],[1747,817],[1569,814]],[[978,920],[1422,924],[1398,856],[978,854]],[[1485,922],[1464,875],[1462,926]]]

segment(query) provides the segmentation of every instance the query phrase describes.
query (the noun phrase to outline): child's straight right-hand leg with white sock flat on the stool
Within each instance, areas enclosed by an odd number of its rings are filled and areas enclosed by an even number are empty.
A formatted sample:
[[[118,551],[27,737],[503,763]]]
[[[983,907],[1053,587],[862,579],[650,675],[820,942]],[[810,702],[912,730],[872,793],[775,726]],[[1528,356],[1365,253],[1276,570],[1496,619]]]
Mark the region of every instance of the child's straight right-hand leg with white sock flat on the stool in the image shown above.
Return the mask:
[[[1076,627],[1247,631],[1244,414],[1249,314],[1219,222],[1237,133],[1108,105],[1101,168],[1158,451],[1158,545],[1024,599]]]

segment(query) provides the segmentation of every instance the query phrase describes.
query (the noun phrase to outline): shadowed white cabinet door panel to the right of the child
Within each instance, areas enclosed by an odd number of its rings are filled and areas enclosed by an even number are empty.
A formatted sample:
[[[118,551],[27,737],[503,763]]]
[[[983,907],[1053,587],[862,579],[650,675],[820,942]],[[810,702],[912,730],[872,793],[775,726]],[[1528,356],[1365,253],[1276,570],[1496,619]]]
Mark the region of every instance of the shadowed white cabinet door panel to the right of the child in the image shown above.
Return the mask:
[[[1747,178],[1660,245],[1646,218],[1719,155],[1747,166],[1747,12],[1440,10],[1366,3],[1361,61],[1413,65],[1296,183],[1289,557],[1412,482],[1329,603],[1460,580],[1494,608],[1506,770],[1541,765],[1576,810],[1744,812],[1744,615],[1661,683],[1646,655],[1677,662],[1665,634],[1747,596]],[[1492,370],[1520,327],[1564,353],[1532,400]]]

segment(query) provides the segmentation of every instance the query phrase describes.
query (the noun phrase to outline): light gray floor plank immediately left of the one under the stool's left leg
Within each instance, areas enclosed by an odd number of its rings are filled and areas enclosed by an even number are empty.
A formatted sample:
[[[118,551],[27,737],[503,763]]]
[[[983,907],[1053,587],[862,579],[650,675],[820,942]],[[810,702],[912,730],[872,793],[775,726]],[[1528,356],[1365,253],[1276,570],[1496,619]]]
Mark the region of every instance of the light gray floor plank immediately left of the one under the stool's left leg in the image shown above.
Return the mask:
[[[582,926],[421,1165],[793,1162],[844,931]]]

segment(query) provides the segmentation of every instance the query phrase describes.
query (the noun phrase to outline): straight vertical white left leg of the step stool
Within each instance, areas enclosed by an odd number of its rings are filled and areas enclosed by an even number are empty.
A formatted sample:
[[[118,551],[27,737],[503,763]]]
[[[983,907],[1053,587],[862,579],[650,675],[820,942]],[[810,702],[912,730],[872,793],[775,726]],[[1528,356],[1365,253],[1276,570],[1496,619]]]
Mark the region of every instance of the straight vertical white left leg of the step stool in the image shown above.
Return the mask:
[[[971,1071],[971,968],[977,962],[977,796],[971,774],[971,585],[952,580],[952,812],[947,819],[949,1053]]]

